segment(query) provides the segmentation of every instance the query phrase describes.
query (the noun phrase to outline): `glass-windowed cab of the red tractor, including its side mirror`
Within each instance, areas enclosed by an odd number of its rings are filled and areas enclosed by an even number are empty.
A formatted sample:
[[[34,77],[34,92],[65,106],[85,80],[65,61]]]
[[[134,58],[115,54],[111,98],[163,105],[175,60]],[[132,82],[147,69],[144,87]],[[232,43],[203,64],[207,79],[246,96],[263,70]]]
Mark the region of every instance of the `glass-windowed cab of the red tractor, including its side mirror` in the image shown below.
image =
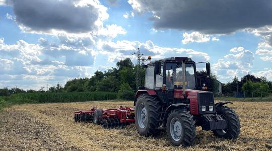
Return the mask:
[[[210,63],[207,62],[207,73],[210,74]],[[194,89],[201,86],[197,83],[195,62],[187,57],[171,57],[152,61],[145,65],[145,87],[142,89]]]

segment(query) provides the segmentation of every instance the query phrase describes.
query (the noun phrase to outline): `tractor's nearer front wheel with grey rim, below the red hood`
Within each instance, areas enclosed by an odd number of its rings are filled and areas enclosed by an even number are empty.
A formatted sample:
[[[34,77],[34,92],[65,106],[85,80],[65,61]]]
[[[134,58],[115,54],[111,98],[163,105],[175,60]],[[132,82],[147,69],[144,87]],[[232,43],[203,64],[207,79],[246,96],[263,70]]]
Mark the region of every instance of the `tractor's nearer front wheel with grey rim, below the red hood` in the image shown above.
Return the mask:
[[[195,122],[190,112],[174,110],[167,118],[167,135],[170,142],[178,146],[192,145],[195,138]]]

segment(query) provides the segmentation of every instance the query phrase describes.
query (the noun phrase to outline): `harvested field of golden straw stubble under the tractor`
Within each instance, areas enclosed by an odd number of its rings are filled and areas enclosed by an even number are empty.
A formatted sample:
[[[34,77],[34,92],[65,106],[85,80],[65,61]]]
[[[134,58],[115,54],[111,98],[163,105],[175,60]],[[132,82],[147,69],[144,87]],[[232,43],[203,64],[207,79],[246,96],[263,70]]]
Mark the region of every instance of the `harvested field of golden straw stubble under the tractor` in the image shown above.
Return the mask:
[[[104,129],[93,123],[75,123],[74,111],[132,107],[133,102],[80,102],[25,104],[5,108],[0,114],[0,150],[271,150],[272,102],[234,102],[241,120],[236,140],[217,138],[197,127],[193,146],[173,146],[166,132],[144,137],[134,124],[124,129]]]

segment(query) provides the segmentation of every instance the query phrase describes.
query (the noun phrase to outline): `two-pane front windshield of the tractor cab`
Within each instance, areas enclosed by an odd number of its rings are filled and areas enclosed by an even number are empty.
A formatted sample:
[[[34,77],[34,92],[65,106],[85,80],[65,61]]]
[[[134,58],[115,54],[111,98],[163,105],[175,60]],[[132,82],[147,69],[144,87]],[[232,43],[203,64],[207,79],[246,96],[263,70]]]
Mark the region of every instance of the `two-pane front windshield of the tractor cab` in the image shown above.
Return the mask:
[[[192,63],[185,64],[186,89],[195,88],[194,66]],[[181,89],[183,85],[182,63],[166,64],[166,87],[168,89]]]

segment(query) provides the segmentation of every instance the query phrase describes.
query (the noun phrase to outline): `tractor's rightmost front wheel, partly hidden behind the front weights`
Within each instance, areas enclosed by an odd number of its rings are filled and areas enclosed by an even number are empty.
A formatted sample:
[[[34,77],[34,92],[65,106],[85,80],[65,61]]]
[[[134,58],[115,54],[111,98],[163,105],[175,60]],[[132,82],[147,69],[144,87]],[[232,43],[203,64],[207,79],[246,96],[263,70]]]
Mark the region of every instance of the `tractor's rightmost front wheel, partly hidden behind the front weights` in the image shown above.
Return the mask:
[[[221,115],[227,121],[227,128],[220,130],[213,130],[214,135],[227,138],[236,139],[240,133],[240,120],[233,109],[221,106],[216,109],[217,114]]]

